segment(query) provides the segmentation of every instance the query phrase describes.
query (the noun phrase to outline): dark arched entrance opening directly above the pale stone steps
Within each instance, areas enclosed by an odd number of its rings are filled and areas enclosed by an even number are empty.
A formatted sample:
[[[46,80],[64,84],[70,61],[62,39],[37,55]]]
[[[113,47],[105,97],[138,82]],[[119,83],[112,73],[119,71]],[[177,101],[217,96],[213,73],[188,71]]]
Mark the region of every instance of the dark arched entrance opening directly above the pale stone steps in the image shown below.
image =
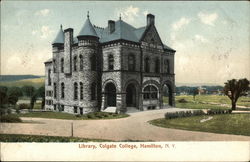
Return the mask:
[[[108,83],[105,86],[105,95],[107,107],[116,106],[116,88],[113,83]]]

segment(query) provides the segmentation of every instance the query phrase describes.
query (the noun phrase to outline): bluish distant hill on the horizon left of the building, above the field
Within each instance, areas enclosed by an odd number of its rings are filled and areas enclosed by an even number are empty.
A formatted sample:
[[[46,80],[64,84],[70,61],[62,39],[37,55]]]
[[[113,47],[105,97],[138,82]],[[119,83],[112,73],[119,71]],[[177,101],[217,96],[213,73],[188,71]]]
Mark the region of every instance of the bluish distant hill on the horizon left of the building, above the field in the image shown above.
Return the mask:
[[[41,78],[38,75],[0,75],[0,82],[18,81],[23,79]]]

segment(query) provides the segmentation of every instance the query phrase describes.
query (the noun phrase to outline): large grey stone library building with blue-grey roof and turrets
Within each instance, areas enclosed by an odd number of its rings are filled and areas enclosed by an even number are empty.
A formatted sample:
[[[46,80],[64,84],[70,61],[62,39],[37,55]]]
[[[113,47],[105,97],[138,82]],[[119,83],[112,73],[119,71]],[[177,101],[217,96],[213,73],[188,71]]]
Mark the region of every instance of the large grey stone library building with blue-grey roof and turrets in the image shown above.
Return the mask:
[[[152,14],[140,28],[121,17],[101,28],[88,15],[76,37],[61,26],[52,53],[45,62],[48,110],[125,113],[175,105],[175,50],[162,43]]]

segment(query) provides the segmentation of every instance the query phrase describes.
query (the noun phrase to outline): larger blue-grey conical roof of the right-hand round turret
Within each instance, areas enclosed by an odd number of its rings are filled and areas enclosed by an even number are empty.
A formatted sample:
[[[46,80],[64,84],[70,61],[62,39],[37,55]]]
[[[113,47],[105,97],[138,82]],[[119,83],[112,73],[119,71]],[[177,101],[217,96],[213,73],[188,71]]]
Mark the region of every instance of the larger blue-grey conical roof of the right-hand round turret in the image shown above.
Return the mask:
[[[80,33],[78,34],[78,36],[94,36],[94,37],[98,37],[93,25],[91,24],[91,22],[89,20],[89,15],[87,16],[87,20],[85,21],[85,23],[84,23]]]

